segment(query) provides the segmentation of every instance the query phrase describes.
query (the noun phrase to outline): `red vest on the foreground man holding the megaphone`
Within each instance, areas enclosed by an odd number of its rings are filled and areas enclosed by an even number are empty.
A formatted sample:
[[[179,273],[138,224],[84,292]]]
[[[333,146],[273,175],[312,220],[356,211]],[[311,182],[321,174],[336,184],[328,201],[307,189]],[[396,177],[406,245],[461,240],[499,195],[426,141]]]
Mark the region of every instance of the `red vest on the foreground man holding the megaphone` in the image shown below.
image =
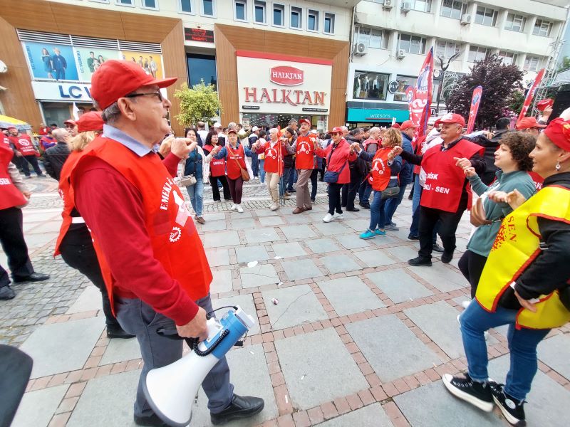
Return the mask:
[[[212,272],[204,246],[185,205],[184,196],[172,181],[172,176],[160,161],[160,157],[155,154],[139,157],[113,139],[96,137],[83,150],[71,171],[72,187],[76,179],[81,179],[82,167],[85,164],[83,161],[88,157],[103,159],[135,186],[142,199],[145,227],[155,258],[170,277],[180,283],[192,300],[205,297],[212,282]],[[105,254],[97,244],[96,235],[93,235],[93,246],[113,307],[113,272],[110,271]]]

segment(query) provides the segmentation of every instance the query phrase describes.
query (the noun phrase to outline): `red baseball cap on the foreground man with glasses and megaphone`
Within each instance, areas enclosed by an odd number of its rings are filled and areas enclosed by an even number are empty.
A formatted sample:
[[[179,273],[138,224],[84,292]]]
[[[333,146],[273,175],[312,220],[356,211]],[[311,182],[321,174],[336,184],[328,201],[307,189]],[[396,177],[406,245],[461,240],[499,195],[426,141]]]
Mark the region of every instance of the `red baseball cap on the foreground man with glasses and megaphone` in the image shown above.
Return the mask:
[[[140,65],[127,60],[105,60],[91,76],[91,96],[101,109],[141,86],[157,85],[166,88],[177,78],[156,79],[145,73]]]

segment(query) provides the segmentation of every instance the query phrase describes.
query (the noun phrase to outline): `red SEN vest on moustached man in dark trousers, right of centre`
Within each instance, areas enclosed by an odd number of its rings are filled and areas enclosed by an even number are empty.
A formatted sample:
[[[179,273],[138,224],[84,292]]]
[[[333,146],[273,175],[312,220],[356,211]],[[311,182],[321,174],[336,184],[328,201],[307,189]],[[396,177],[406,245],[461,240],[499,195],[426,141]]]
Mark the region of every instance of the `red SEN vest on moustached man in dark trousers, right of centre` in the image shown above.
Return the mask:
[[[425,152],[422,167],[426,178],[423,186],[420,205],[426,208],[440,209],[440,211],[457,212],[463,186],[465,185],[465,172],[455,166],[454,157],[470,159],[474,154],[484,152],[484,147],[473,144],[467,139],[461,139],[451,149],[441,151],[438,144]],[[471,192],[467,191],[471,207]]]

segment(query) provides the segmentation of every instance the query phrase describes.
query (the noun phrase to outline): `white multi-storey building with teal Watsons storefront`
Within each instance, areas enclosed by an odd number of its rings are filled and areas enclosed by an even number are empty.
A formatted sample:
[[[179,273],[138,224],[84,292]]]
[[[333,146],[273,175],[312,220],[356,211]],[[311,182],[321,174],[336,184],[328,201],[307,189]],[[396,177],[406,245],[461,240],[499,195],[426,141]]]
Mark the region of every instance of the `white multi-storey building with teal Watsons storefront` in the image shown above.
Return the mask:
[[[566,1],[372,0],[356,6],[348,69],[347,122],[382,124],[408,119],[405,88],[415,85],[434,48],[432,107],[475,60],[491,54],[533,80],[561,38]],[[438,58],[443,59],[445,73]]]

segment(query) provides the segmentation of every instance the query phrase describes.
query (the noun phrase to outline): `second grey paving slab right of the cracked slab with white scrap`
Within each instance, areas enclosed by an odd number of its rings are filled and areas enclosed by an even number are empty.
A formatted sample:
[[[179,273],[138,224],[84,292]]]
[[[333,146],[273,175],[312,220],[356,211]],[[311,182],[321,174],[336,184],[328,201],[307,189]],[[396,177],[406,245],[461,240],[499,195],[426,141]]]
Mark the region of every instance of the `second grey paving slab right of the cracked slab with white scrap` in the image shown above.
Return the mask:
[[[398,302],[409,301],[410,298],[414,299],[433,295],[433,292],[418,283],[417,280],[400,268],[380,271],[378,273],[369,273],[366,277],[372,280],[372,282],[396,304]]]

